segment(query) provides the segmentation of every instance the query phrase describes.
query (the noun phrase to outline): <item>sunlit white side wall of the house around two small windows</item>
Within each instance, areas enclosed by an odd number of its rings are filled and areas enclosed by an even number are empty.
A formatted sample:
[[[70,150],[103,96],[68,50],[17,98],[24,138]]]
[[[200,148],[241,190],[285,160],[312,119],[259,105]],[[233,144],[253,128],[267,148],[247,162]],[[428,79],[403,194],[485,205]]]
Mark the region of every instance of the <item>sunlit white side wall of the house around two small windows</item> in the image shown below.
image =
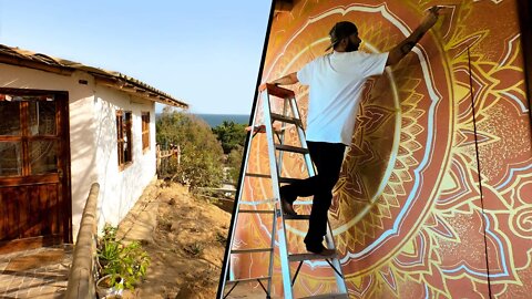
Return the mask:
[[[116,111],[132,112],[133,163],[119,169]],[[142,150],[142,112],[155,121],[155,105],[119,91],[96,86],[94,117],[96,126],[96,172],[100,182],[99,227],[116,225],[133,207],[155,176],[155,124],[151,124],[150,151]]]

